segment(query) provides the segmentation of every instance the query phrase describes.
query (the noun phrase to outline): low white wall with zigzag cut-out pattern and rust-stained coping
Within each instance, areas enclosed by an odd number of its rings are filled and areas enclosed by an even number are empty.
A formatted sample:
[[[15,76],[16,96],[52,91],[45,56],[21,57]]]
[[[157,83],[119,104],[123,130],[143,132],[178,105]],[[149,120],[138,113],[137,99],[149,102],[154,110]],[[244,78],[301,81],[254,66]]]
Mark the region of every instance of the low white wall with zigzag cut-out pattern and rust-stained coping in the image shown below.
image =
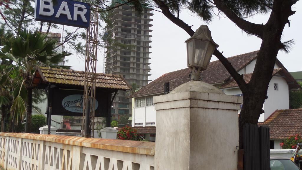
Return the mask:
[[[9,170],[154,170],[154,142],[0,133]]]

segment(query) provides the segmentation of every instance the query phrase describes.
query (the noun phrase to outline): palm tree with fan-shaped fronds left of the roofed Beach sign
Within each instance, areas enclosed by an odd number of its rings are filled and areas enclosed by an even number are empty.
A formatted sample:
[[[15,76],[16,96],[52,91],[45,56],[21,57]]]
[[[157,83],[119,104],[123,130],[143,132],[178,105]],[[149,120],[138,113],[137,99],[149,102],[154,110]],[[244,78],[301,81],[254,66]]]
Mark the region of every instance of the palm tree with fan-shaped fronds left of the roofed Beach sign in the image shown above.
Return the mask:
[[[70,66],[58,66],[63,62],[66,56],[71,53],[63,51],[58,53],[56,50],[58,41],[47,39],[47,34],[39,31],[21,31],[17,37],[8,40],[2,51],[3,59],[12,60],[15,67],[20,71],[24,81],[24,87],[27,90],[26,101],[26,128],[25,132],[31,130],[31,112],[32,112],[32,88],[31,81],[36,66],[59,67],[70,69]],[[14,106],[14,105],[13,105]]]

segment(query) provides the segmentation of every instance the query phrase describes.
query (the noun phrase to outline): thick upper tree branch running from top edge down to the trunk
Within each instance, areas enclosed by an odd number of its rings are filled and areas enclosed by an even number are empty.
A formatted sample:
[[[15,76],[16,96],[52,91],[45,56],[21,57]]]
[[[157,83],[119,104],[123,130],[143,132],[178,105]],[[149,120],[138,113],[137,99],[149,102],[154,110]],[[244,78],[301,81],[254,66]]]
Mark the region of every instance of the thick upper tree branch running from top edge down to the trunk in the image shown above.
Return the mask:
[[[231,21],[233,21],[240,29],[259,38],[263,37],[263,25],[255,24],[238,17],[222,0],[213,0],[213,2],[217,8],[222,11]]]

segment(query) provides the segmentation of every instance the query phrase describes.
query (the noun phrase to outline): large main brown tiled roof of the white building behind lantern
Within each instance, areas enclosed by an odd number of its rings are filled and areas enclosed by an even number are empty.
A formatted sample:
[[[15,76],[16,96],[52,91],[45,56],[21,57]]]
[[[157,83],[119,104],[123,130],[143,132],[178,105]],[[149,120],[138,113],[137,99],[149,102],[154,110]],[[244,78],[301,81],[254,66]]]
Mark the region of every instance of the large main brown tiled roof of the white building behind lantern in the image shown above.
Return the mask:
[[[258,51],[253,51],[246,54],[240,54],[233,57],[228,57],[227,60],[233,65],[235,70],[239,71],[243,69],[247,64],[257,56]],[[191,72],[190,68],[185,68],[182,70],[173,71],[166,73],[151,83],[147,84],[145,87],[141,88],[131,97],[137,96],[147,96],[152,94],[159,94],[164,92],[164,83],[170,83],[170,91],[178,87],[179,85],[190,81],[189,74]],[[221,64],[219,60],[212,61],[209,63],[207,70],[202,72],[203,81],[209,84],[224,83],[227,79],[231,77],[230,73]]]

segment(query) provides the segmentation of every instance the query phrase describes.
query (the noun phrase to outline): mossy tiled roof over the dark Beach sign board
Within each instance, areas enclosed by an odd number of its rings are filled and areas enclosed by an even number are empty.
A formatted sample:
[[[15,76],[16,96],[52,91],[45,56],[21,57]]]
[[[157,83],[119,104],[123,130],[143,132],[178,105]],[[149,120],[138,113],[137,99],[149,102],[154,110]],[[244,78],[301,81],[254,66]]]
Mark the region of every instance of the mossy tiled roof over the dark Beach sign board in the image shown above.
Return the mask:
[[[67,86],[84,86],[84,71],[64,70],[49,67],[37,67],[31,86],[42,83],[53,83]],[[131,86],[119,75],[96,74],[96,88],[130,90]]]

